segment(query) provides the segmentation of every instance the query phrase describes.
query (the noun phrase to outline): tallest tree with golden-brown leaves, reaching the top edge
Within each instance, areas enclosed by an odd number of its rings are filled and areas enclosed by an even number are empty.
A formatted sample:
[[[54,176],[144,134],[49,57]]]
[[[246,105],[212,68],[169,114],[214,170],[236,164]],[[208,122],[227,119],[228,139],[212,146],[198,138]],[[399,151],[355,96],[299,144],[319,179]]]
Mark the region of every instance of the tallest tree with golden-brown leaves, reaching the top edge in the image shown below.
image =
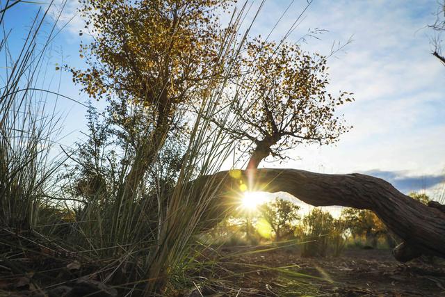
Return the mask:
[[[230,3],[83,1],[81,13],[94,39],[81,45],[88,68],[71,72],[90,97],[108,100],[108,124],[134,151],[119,189],[123,200],[142,182],[169,132],[184,126],[179,107],[198,100],[205,83],[220,73],[229,29],[220,29],[216,10]]]

